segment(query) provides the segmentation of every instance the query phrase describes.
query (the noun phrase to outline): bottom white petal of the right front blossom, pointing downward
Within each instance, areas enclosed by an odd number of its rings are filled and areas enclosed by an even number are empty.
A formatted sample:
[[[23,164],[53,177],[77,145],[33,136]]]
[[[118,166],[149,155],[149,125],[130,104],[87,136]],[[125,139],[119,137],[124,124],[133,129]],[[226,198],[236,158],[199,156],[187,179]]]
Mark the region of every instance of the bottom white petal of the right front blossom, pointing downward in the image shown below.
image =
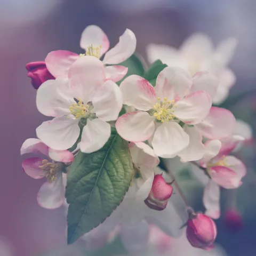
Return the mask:
[[[189,135],[175,122],[165,122],[156,129],[152,146],[157,156],[171,158],[189,144]]]

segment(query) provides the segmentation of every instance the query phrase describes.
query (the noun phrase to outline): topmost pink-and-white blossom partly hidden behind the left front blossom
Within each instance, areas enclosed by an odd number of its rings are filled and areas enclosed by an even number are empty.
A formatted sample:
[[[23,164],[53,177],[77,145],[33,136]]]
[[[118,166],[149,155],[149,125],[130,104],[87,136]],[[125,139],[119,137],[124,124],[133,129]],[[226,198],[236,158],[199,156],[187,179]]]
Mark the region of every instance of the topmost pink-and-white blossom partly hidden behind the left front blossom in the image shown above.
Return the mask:
[[[106,65],[114,65],[106,67],[106,78],[117,82],[126,75],[128,69],[116,64],[125,61],[134,53],[136,43],[134,33],[130,29],[126,29],[124,34],[119,37],[119,42],[108,51],[107,35],[98,26],[91,25],[85,28],[80,41],[80,46],[85,50],[85,54],[78,55],[63,50],[53,51],[47,55],[45,62],[53,76],[63,77],[68,75],[70,66],[79,57],[86,55],[100,59],[105,54],[102,62]]]

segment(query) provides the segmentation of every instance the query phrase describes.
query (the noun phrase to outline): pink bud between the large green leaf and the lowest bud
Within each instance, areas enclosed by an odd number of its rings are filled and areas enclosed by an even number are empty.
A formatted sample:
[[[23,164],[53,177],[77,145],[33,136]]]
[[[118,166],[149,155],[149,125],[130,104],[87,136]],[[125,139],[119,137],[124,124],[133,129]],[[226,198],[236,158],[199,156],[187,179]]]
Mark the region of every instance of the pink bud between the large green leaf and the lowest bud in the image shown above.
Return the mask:
[[[148,198],[144,202],[149,208],[162,211],[165,209],[172,191],[172,186],[165,182],[161,174],[157,174],[155,175]]]

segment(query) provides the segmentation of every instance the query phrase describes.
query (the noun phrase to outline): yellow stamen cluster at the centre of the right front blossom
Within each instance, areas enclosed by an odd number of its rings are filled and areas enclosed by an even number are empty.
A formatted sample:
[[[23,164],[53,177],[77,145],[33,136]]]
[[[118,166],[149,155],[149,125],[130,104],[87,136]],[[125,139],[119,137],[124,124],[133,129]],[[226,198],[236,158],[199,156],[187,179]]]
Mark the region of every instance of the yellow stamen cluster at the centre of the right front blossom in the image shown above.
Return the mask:
[[[174,109],[172,109],[173,106],[176,107],[176,105],[173,105],[174,100],[167,100],[166,97],[163,101],[160,100],[160,97],[158,97],[157,100],[158,102],[153,107],[156,120],[162,123],[165,121],[171,121],[175,117],[173,114]]]

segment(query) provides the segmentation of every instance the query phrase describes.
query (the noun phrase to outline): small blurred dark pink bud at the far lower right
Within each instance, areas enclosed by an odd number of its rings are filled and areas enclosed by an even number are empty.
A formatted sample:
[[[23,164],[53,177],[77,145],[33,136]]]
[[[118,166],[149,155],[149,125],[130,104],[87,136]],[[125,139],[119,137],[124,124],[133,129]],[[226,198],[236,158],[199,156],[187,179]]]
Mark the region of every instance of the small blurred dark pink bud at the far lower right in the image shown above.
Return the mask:
[[[243,228],[243,218],[241,214],[234,209],[226,211],[224,223],[227,229],[232,232],[237,232]]]

